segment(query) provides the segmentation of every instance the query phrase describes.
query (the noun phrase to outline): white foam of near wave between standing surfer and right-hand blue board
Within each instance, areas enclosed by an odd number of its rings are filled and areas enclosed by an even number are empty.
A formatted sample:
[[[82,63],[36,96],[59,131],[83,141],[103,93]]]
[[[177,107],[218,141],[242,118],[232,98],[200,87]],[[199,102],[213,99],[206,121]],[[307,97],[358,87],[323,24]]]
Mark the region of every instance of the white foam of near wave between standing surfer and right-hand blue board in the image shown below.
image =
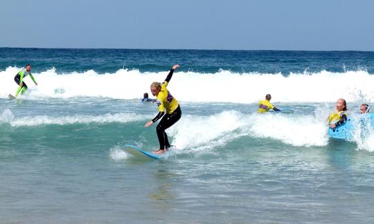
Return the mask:
[[[209,116],[186,115],[167,131],[179,153],[204,152],[243,136],[272,138],[294,146],[328,144],[326,122],[313,115],[244,114],[224,111]]]

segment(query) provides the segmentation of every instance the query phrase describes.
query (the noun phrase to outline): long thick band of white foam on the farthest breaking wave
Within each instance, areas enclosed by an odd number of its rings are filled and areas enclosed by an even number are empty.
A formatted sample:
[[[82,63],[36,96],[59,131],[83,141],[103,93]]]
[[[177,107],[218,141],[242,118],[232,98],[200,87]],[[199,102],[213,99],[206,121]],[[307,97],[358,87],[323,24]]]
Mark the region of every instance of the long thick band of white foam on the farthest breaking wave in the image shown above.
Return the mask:
[[[8,67],[0,72],[0,97],[15,93],[13,78],[20,68]],[[140,73],[137,70],[120,69],[116,73],[58,74],[54,69],[35,73],[38,86],[26,77],[30,94],[26,97],[110,97],[132,100],[150,92],[152,82],[162,82],[168,71]],[[348,102],[374,99],[374,76],[366,71],[344,73],[291,73],[278,74],[195,73],[177,71],[168,89],[177,100],[186,102],[235,102],[253,103],[262,100],[267,93],[273,102],[336,102],[344,98]]]

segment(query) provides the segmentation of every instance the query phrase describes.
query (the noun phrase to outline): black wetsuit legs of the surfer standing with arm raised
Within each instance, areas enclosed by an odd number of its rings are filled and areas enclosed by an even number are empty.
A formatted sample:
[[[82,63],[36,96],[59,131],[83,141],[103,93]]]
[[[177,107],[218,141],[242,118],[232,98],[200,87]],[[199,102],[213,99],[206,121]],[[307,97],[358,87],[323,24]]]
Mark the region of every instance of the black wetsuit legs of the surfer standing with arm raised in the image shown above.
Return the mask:
[[[163,116],[156,127],[157,137],[159,138],[160,149],[168,149],[170,147],[168,135],[165,130],[175,124],[181,118],[181,107],[178,106],[172,114]]]

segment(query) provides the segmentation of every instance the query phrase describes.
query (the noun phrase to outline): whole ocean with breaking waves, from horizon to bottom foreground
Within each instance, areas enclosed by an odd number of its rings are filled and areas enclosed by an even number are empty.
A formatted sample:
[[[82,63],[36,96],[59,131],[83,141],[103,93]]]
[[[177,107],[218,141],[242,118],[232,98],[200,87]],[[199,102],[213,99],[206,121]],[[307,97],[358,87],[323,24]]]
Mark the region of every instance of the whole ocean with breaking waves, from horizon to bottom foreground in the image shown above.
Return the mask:
[[[26,64],[38,85],[18,100]],[[168,85],[182,117],[158,148]],[[374,101],[374,52],[0,48],[0,223],[373,223],[374,134],[328,138]],[[293,114],[258,114],[272,95]]]

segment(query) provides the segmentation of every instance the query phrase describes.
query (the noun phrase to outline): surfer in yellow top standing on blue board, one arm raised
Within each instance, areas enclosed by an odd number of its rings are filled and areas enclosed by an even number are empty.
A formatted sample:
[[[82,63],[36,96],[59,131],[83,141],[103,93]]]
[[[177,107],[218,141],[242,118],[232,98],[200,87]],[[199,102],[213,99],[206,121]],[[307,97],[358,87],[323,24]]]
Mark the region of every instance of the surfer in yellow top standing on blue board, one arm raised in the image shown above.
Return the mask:
[[[161,121],[157,124],[156,132],[159,138],[160,148],[157,151],[152,151],[154,154],[162,154],[168,148],[170,148],[168,135],[165,130],[175,124],[181,118],[181,107],[178,101],[173,97],[168,89],[166,88],[172,78],[172,73],[179,67],[179,64],[172,66],[170,73],[162,84],[159,82],[153,82],[150,86],[152,95],[157,97],[157,106],[159,106],[159,113],[151,121],[147,122],[144,127],[150,127],[154,122],[157,122],[160,118]],[[166,110],[166,113],[165,113]]]

